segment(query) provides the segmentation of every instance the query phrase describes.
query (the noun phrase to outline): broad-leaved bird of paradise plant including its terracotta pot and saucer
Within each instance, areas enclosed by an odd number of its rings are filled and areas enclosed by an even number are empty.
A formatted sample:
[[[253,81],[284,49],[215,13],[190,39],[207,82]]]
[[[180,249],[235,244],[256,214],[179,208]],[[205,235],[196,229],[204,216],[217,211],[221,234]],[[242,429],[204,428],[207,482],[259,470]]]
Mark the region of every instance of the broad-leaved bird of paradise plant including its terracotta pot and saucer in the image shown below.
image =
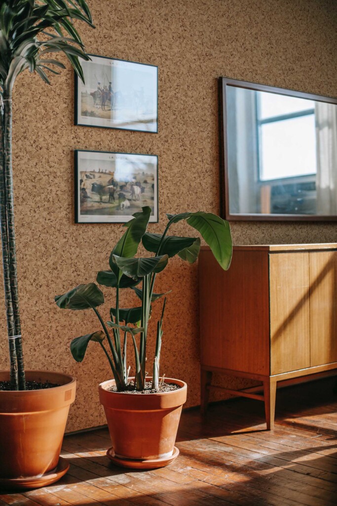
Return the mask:
[[[81,362],[90,341],[101,346],[113,376],[99,386],[112,440],[107,454],[117,465],[133,469],[166,466],[179,453],[174,443],[187,385],[181,379],[165,378],[160,373],[167,293],[156,293],[154,288],[157,275],[169,259],[177,255],[190,264],[197,260],[201,240],[168,235],[168,232],[175,223],[185,220],[202,235],[223,269],[228,269],[232,255],[229,224],[218,216],[203,212],[167,215],[163,234],[154,234],[147,231],[150,214],[151,208],[143,207],[142,212],[135,213],[124,225],[126,231],[110,254],[110,269],[97,275],[98,284],[115,290],[109,320],[98,309],[104,304],[104,294],[95,283],[80,284],[55,298],[62,309],[91,309],[98,317],[102,328],[73,339],[70,350],[74,359]],[[137,257],[140,242],[154,255]],[[132,289],[141,304],[121,308],[120,293],[124,289]],[[147,349],[153,326],[150,316],[152,305],[158,300],[164,302],[155,325],[156,344],[151,354]],[[128,340],[133,349],[132,376]],[[147,362],[150,354],[152,363]],[[147,373],[148,368],[152,374]]]

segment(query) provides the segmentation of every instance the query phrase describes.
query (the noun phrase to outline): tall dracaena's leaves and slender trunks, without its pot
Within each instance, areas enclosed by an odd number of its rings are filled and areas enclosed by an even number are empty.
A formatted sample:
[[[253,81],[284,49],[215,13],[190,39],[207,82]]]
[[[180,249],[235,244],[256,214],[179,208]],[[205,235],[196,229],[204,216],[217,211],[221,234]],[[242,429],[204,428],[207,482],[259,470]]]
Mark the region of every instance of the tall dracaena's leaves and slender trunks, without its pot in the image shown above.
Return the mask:
[[[88,60],[73,20],[93,27],[85,0],[2,0],[0,2],[0,222],[5,302],[13,390],[25,390],[19,314],[12,176],[12,91],[28,69],[50,83],[48,73],[65,68],[51,58],[63,53],[83,80],[79,58]]]

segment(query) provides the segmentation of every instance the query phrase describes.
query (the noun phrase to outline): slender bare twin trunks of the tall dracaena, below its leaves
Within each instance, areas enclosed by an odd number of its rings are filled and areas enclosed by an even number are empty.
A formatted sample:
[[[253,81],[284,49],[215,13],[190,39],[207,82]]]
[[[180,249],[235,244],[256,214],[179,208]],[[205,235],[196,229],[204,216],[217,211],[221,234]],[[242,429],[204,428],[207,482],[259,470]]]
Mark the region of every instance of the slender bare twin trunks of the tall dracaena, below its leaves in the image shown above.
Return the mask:
[[[4,93],[1,121],[0,220],[3,249],[5,303],[10,349],[10,373],[13,390],[25,390],[18,277],[14,229],[12,174],[12,97]]]

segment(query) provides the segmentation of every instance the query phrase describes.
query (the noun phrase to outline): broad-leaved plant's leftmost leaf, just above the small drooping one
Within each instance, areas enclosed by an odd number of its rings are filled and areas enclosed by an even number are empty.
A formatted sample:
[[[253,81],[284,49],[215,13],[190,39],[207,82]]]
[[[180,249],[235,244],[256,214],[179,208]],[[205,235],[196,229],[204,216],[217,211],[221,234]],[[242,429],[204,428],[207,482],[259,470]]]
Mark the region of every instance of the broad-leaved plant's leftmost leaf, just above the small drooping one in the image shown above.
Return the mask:
[[[104,296],[95,283],[88,283],[78,285],[64,295],[57,295],[55,302],[61,309],[89,309],[101,306]]]

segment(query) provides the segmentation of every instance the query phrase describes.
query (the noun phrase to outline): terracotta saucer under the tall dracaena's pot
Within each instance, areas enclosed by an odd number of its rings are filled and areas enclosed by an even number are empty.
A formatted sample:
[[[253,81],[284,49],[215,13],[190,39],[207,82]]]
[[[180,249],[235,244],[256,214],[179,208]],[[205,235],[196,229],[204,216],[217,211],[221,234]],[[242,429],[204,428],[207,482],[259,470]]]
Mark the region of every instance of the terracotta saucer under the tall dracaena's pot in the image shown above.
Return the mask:
[[[29,488],[41,488],[51,485],[60,480],[69,469],[69,462],[64,458],[59,458],[56,469],[45,473],[42,476],[32,476],[31,478],[0,478],[0,488],[10,488],[13,490],[26,490]]]

